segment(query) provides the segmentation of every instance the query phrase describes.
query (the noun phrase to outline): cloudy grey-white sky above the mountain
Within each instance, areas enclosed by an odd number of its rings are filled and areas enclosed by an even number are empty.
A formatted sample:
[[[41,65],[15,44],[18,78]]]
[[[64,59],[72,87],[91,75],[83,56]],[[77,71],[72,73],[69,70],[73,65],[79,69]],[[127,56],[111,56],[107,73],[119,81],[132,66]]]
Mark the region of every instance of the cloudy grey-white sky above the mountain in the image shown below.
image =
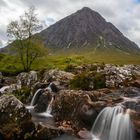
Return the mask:
[[[7,25],[30,6],[36,7],[44,28],[83,7],[89,7],[140,46],[140,0],[0,0],[0,47],[8,41]]]

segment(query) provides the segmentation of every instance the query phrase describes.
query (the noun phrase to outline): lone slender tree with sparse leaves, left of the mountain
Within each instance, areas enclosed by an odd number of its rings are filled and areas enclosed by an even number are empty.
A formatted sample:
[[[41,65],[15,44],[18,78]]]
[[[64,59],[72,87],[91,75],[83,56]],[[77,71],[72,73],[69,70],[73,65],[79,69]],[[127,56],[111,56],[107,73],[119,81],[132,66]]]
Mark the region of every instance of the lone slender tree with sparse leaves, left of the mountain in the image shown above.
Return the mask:
[[[33,35],[41,29],[34,7],[25,11],[19,20],[11,21],[7,27],[7,35],[11,41],[14,40],[12,48],[19,55],[24,71],[29,71],[34,61],[44,53],[41,41]]]

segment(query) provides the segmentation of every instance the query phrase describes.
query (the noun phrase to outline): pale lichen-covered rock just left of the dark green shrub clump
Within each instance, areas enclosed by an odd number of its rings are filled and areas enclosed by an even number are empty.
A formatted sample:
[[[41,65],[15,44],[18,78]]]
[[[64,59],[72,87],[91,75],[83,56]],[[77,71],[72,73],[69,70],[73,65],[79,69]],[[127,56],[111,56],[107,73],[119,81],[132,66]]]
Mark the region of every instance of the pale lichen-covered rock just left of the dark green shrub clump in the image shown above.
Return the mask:
[[[69,81],[74,77],[74,74],[60,71],[57,69],[50,70],[44,73],[43,81],[45,83],[53,82],[58,88],[68,87]]]

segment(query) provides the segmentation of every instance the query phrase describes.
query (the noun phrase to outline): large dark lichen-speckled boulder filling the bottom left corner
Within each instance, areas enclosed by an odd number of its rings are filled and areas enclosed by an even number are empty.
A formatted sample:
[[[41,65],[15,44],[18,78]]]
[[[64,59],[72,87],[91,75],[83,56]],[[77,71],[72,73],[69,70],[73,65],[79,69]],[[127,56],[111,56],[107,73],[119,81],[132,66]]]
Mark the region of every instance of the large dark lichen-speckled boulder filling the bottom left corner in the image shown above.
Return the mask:
[[[26,132],[34,131],[35,126],[31,125],[30,120],[31,115],[28,110],[13,95],[0,97],[0,133],[4,139],[22,139]]]

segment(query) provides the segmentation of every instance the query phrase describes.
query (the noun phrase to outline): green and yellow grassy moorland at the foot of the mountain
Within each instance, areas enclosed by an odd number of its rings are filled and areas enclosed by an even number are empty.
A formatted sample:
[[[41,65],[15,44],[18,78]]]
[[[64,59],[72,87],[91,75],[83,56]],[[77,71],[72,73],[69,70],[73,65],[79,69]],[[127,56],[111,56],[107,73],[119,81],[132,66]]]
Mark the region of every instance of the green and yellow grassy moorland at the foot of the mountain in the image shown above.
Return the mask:
[[[50,53],[39,58],[32,66],[33,70],[60,68],[65,69],[67,65],[82,65],[92,63],[109,64],[136,64],[140,65],[140,55],[116,53],[114,50],[93,48],[85,49],[62,49],[61,52]],[[0,54],[0,71],[4,73],[17,74],[22,71],[22,65],[16,56]]]

